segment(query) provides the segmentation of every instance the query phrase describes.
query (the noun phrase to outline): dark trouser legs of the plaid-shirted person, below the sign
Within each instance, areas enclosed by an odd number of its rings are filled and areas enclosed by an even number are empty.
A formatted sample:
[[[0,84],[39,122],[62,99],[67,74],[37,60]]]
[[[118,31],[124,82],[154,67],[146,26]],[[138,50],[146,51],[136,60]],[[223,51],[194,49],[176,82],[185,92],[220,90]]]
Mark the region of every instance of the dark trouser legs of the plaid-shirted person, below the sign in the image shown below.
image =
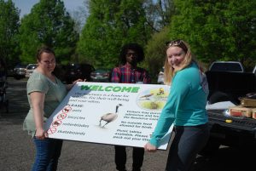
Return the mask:
[[[125,170],[126,163],[126,149],[125,146],[115,145],[115,157],[114,162],[116,164],[116,169]],[[144,148],[133,147],[132,151],[132,171],[140,171],[143,166],[144,158]]]

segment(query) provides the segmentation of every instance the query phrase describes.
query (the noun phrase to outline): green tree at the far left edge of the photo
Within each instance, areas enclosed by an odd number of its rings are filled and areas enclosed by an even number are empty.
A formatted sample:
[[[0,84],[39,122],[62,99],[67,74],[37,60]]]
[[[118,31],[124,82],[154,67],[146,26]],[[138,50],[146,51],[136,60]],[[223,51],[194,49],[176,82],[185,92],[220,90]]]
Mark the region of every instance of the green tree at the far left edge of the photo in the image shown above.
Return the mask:
[[[0,0],[0,55],[7,64],[17,62],[19,53],[18,34],[20,10],[9,0]]]

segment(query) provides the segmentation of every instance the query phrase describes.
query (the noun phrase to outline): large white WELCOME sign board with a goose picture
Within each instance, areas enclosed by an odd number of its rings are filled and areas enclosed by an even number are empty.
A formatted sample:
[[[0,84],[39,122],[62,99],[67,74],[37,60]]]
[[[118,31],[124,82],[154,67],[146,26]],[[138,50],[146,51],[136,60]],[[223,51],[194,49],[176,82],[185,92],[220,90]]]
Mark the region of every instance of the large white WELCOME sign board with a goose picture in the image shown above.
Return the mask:
[[[170,87],[77,83],[45,124],[49,138],[143,147],[154,131]],[[172,127],[159,149],[166,150]]]

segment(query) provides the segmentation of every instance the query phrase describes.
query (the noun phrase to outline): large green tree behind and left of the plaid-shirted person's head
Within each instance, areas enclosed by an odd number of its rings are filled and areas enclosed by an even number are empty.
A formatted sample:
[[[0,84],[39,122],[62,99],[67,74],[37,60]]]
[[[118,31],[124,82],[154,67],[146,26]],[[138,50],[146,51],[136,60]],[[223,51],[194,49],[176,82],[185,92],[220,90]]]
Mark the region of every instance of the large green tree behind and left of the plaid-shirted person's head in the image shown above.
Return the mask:
[[[89,12],[78,53],[96,67],[117,65],[124,43],[144,46],[152,32],[140,0],[91,0]]]

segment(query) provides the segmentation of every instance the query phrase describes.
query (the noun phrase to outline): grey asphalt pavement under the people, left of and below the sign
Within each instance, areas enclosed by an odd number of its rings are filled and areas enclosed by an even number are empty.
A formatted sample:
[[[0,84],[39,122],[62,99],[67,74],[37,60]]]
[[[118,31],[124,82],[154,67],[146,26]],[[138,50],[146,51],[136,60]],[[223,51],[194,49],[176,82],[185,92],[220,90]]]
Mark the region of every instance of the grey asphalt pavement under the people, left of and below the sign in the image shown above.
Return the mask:
[[[30,135],[22,130],[29,105],[26,99],[26,79],[9,78],[7,96],[9,113],[0,110],[0,171],[27,171],[32,168],[35,148]],[[127,168],[131,170],[132,148],[127,147]],[[167,151],[146,154],[143,171],[164,170]],[[100,145],[65,140],[58,170],[114,171],[113,145]]]

